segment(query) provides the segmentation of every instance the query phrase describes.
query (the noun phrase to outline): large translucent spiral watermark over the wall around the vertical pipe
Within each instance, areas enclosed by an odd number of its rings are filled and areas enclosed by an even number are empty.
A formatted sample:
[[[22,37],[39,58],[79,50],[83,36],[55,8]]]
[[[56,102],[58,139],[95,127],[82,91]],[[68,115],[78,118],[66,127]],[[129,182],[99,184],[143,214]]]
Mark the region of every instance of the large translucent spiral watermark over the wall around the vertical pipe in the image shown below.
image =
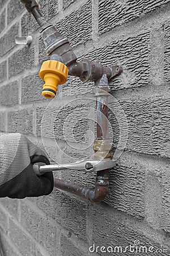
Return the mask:
[[[111,143],[115,136],[112,127],[113,119],[117,122],[117,127],[114,129],[119,135],[113,155],[113,160],[116,161],[120,158],[128,141],[128,122],[120,103],[111,94],[108,93],[108,96],[108,104],[105,107],[108,107],[109,116],[112,118],[112,124],[108,120]],[[102,99],[101,103],[103,103]],[[61,93],[59,97],[51,100],[41,121],[41,139],[46,154],[57,164],[62,164],[63,159],[69,163],[86,158],[93,159],[92,146],[96,138],[97,111],[99,110],[96,110],[96,98],[92,96],[82,96],[73,100],[65,93]],[[49,146],[49,140],[53,147]]]

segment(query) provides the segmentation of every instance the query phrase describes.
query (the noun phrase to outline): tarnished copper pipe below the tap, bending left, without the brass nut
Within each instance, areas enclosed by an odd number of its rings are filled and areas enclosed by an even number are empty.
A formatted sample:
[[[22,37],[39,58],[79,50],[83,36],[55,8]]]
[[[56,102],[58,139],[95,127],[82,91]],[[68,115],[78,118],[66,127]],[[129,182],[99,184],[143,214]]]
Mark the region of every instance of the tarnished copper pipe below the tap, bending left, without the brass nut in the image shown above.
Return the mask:
[[[95,82],[96,87],[104,89],[108,92],[108,79],[106,75]],[[97,106],[97,138],[96,142],[101,139],[108,139],[108,108],[107,108],[108,96],[96,96]],[[103,100],[104,98],[104,100]],[[105,199],[108,192],[109,185],[109,170],[98,171],[95,181],[95,188],[88,188],[84,185],[79,185],[66,180],[54,179],[54,187],[63,191],[72,193],[76,196],[83,197],[90,200],[92,203],[99,203]]]

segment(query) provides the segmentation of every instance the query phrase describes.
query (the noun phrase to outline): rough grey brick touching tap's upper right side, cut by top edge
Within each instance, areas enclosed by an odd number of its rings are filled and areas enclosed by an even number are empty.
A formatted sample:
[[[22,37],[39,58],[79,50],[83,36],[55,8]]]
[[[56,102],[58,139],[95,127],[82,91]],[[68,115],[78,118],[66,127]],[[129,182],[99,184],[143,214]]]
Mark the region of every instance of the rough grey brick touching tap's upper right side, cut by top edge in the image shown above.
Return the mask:
[[[66,36],[71,46],[91,40],[92,36],[92,3],[91,0],[78,10],[66,16],[56,24],[57,30]]]

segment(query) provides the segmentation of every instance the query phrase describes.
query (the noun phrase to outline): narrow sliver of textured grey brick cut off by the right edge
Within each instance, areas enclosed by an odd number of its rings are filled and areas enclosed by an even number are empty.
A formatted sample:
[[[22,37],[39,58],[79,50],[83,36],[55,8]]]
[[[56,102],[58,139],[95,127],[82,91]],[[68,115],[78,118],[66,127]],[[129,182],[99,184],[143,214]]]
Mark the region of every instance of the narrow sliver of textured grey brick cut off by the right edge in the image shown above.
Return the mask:
[[[170,21],[168,20],[164,24],[164,79],[165,82],[169,82],[170,78]]]

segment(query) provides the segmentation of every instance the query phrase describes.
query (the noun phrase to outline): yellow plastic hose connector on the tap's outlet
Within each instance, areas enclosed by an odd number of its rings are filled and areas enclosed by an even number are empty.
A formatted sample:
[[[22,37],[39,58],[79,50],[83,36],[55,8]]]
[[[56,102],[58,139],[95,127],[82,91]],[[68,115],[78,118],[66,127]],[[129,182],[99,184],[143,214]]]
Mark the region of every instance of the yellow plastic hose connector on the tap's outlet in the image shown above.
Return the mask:
[[[69,69],[67,66],[57,60],[44,61],[40,69],[40,78],[45,81],[42,90],[42,96],[54,98],[57,93],[57,86],[65,84]]]

